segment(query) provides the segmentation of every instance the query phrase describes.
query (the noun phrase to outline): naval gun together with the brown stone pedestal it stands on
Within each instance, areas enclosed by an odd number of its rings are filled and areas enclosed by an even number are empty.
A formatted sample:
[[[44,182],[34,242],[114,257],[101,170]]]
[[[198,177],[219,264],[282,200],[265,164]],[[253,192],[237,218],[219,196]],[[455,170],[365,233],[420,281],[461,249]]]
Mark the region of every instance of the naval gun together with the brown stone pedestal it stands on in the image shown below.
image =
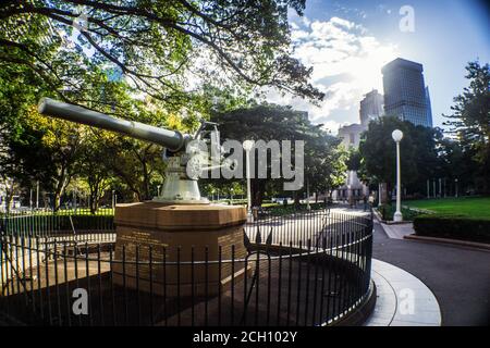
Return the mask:
[[[229,268],[220,270],[215,263],[205,269],[201,263],[205,260],[226,260],[232,256],[240,259],[246,256],[243,244],[245,208],[210,204],[200,197],[197,186],[197,178],[203,171],[236,164],[226,160],[221,162],[223,151],[217,124],[201,122],[200,128],[192,136],[117,119],[49,98],[39,101],[39,113],[127,135],[166,148],[168,165],[161,194],[151,201],[115,207],[115,259],[123,262],[114,265],[114,284],[148,291],[150,288],[162,290],[169,297],[176,294],[199,296],[218,294],[231,279],[237,281],[245,275],[244,264],[236,265],[232,271]],[[208,127],[212,129],[208,130]],[[207,135],[209,138],[206,138]],[[206,166],[211,157],[207,151],[209,144],[212,156],[218,156],[223,164]],[[148,275],[148,262],[142,264],[138,271],[134,266],[121,265],[124,261],[138,263],[149,260],[160,262],[152,269],[154,277]],[[191,260],[198,263],[194,268],[194,275],[188,272],[188,266],[181,265]]]

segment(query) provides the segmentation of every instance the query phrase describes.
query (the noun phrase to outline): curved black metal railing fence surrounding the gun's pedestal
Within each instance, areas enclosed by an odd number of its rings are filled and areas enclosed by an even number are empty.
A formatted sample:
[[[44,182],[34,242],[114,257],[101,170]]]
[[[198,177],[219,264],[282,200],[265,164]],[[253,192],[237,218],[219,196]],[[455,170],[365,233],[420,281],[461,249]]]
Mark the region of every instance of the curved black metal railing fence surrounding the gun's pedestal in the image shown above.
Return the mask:
[[[324,325],[369,293],[371,215],[261,219],[245,225],[243,244],[217,253],[118,248],[102,217],[89,229],[74,216],[2,219],[0,312],[69,326]]]

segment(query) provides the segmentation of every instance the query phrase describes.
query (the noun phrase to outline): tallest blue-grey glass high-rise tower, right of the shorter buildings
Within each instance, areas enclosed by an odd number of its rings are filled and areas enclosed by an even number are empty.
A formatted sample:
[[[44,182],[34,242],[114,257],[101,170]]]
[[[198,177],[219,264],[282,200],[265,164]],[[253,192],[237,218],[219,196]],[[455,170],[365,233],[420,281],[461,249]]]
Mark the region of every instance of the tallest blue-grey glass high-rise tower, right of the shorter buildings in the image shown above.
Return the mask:
[[[415,125],[432,126],[429,91],[422,65],[397,58],[381,70],[384,87],[384,113]]]

